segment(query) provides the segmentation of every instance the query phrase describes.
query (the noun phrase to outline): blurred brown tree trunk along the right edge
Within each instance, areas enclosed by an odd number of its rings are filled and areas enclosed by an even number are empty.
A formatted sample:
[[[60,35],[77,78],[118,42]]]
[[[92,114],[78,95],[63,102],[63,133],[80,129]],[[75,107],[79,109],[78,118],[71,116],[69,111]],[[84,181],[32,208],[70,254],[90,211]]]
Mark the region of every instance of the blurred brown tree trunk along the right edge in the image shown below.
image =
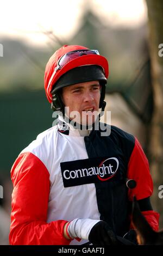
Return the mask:
[[[163,57],[159,56],[159,45],[163,42],[163,1],[146,0],[146,3],[154,94],[148,151],[151,155],[150,167],[154,184],[153,206],[160,214],[160,228],[163,228],[163,200],[159,197],[159,186],[163,184]]]

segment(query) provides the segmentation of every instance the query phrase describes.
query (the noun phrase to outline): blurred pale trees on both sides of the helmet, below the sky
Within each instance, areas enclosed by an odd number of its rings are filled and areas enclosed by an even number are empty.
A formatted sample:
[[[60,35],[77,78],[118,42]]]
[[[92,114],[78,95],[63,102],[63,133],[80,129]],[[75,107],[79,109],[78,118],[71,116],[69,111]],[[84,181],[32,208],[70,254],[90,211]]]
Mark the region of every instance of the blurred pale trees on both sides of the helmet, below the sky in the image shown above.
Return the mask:
[[[47,33],[48,34],[48,33]],[[112,28],[105,26],[91,11],[86,11],[77,33],[68,44],[97,48],[108,59],[109,81],[112,85],[130,81],[137,68],[146,61],[146,25],[138,28]],[[0,90],[20,87],[42,88],[47,60],[61,45],[54,40],[54,47],[32,47],[23,41],[1,40],[4,57],[0,59]],[[67,42],[62,42],[67,44]]]

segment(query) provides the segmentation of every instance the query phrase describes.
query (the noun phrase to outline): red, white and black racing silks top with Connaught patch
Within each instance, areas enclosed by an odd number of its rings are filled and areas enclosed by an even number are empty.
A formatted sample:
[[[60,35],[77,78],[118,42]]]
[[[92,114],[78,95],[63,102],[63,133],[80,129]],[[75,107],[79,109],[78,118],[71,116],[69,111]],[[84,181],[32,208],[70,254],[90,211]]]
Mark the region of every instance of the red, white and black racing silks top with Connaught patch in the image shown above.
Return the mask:
[[[137,182],[133,190],[126,178]],[[74,218],[104,220],[123,236],[130,229],[133,196],[142,200],[153,192],[140,143],[115,126],[109,136],[92,130],[85,137],[51,127],[21,152],[11,179],[11,245],[83,244],[87,241],[64,237],[65,223]],[[142,212],[158,229],[158,214]]]

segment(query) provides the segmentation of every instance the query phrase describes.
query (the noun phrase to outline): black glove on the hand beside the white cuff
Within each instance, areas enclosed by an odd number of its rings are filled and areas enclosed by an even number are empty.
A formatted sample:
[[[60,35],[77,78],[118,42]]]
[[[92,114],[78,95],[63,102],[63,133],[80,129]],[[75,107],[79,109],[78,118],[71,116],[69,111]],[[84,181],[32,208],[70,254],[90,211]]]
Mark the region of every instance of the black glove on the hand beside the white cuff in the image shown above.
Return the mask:
[[[99,221],[93,226],[89,234],[89,241],[93,245],[117,245],[114,232],[104,221]]]

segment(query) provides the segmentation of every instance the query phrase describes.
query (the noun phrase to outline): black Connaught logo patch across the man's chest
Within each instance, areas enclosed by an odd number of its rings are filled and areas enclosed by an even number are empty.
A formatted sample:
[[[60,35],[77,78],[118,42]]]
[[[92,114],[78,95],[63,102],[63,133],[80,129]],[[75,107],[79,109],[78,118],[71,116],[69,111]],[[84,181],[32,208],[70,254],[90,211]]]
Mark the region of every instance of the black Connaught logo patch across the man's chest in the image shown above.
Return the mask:
[[[116,174],[116,157],[83,159],[60,163],[64,187],[107,181]]]

